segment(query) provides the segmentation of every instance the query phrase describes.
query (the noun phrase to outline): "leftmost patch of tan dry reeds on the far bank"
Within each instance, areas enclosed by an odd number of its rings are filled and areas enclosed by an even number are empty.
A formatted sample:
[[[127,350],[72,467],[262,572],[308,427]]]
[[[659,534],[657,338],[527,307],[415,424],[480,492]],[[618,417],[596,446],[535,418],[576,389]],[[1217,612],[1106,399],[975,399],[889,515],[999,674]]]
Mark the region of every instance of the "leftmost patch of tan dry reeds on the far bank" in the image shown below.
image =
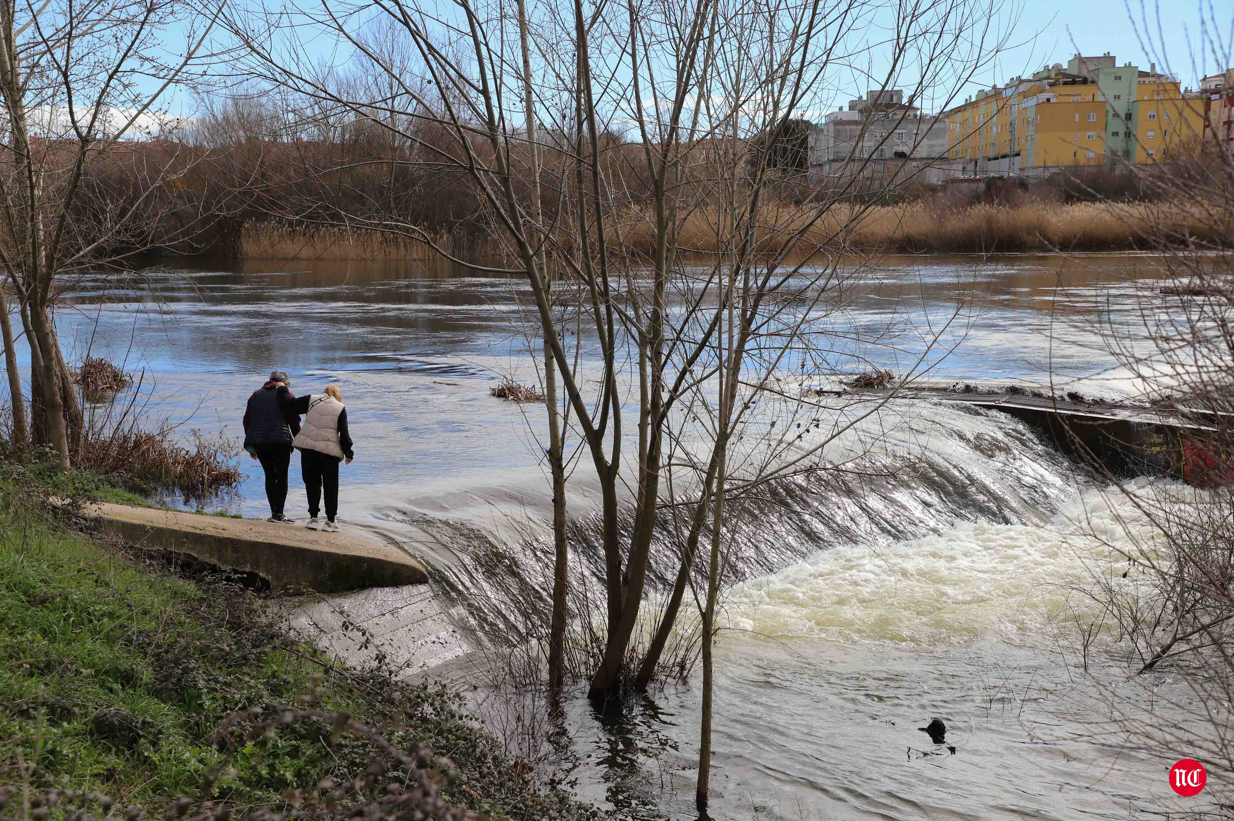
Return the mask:
[[[449,235],[433,237],[450,251]],[[424,243],[374,231],[322,227],[300,231],[278,223],[249,223],[241,233],[246,259],[373,259],[428,260],[437,254]]]

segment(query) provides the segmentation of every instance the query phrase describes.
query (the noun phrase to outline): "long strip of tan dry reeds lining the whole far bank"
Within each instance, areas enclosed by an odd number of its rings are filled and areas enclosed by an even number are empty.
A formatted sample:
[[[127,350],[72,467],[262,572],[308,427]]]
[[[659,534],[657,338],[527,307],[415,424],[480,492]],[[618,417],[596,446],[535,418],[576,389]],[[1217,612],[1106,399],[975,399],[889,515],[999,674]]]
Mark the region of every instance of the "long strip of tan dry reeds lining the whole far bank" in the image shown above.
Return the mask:
[[[1028,200],[1018,205],[975,204],[939,206],[929,201],[891,206],[839,205],[817,221],[808,206],[792,204],[765,209],[764,252],[776,253],[790,243],[795,252],[814,248],[845,252],[998,253],[1033,251],[1134,251],[1199,243],[1230,246],[1229,225],[1195,204],[1077,202],[1064,205]],[[692,253],[716,253],[716,226],[724,221],[713,209],[698,209],[682,222],[679,242]],[[654,219],[624,212],[610,219],[610,249],[650,257],[655,249]],[[801,238],[795,237],[801,233]],[[563,247],[569,237],[559,237]],[[433,242],[453,253],[448,235]],[[496,242],[487,254],[500,257]],[[485,243],[469,253],[485,252]],[[428,246],[392,235],[320,228],[300,232],[270,223],[244,227],[244,259],[366,259],[427,260]]]

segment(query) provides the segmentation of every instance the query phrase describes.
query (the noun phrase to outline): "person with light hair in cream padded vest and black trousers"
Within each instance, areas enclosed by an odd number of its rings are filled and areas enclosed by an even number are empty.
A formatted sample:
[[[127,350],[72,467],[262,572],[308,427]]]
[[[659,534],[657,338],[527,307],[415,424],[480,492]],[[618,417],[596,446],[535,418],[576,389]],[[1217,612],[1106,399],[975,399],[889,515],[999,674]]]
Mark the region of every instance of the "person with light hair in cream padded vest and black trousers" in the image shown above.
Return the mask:
[[[326,393],[310,394],[295,400],[294,410],[304,414],[305,421],[291,446],[300,451],[300,475],[308,495],[308,530],[321,527],[337,531],[338,523],[338,465],[344,459],[352,463],[352,437],[347,430],[347,407],[338,385],[326,385]],[[326,523],[317,514],[322,491],[326,494]]]

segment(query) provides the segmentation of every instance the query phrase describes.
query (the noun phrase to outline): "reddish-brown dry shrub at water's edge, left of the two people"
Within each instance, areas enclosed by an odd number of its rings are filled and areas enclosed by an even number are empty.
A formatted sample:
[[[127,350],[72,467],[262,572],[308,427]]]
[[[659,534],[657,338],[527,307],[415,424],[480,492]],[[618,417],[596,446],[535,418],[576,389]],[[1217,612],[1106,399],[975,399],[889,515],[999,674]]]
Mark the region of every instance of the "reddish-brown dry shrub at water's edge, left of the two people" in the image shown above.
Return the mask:
[[[243,479],[237,465],[236,441],[220,433],[189,432],[188,447],[169,431],[136,428],[105,437],[83,437],[77,465],[102,475],[123,475],[142,485],[180,491],[185,500],[204,499]]]

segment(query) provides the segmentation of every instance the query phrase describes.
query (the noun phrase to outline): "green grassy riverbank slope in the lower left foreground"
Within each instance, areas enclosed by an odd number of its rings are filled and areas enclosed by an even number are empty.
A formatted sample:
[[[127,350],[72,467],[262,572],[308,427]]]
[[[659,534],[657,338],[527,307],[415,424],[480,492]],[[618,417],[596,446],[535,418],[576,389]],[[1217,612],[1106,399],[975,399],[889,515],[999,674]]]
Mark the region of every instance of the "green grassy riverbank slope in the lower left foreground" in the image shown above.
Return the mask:
[[[89,477],[56,495],[96,498]],[[52,515],[39,473],[0,463],[0,788],[97,790],[117,806],[163,811],[201,795],[233,815],[286,809],[289,790],[350,784],[373,762],[396,765],[359,733],[333,740],[317,719],[271,727],[230,747],[260,717],[306,704],[347,714],[415,759],[429,744],[449,770],[439,795],[455,806],[517,819],[584,819],[594,811],[506,757],[443,689],[334,667],[288,635],[262,596],[77,530]],[[306,700],[307,699],[307,700]],[[254,709],[260,709],[260,714]],[[337,733],[336,733],[337,735]],[[363,802],[341,788],[339,817]],[[106,809],[102,814],[105,815]]]

